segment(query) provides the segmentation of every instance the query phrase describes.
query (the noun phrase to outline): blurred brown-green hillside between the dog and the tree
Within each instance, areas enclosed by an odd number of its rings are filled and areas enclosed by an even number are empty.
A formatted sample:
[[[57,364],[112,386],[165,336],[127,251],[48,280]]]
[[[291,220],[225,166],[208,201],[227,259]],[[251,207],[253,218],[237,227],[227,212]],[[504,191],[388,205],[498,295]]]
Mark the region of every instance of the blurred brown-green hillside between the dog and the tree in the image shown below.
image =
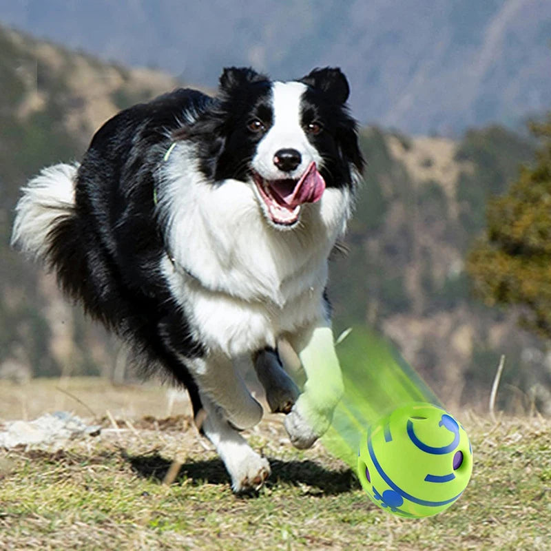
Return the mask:
[[[464,271],[487,198],[505,191],[532,144],[501,127],[457,142],[371,128],[362,148],[364,192],[330,288],[340,329],[358,320],[376,326],[456,404],[487,402],[505,354],[501,406],[534,401],[550,411],[543,343],[519,329],[514,313],[474,300]]]

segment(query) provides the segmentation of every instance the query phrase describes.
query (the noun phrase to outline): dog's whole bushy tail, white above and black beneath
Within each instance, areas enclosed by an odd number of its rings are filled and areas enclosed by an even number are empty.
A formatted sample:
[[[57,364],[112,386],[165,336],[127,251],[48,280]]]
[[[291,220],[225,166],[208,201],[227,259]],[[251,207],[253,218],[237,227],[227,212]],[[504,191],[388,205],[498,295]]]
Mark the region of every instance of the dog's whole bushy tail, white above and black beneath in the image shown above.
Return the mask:
[[[55,269],[63,290],[74,298],[85,270],[74,202],[78,169],[78,164],[54,165],[23,187],[11,240],[12,246]]]

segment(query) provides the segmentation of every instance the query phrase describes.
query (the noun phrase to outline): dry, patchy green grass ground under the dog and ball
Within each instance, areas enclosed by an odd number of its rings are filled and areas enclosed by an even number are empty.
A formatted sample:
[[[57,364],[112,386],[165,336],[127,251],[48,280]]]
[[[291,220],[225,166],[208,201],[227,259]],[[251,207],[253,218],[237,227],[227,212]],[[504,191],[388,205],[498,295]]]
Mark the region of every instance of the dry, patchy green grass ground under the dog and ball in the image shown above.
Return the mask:
[[[23,403],[25,393],[27,409],[48,410],[56,386],[1,383],[0,419],[17,417],[14,396]],[[549,548],[549,419],[490,422],[464,412],[475,453],[472,480],[446,512],[412,521],[373,506],[355,475],[319,444],[305,452],[292,448],[278,416],[247,434],[270,459],[269,483],[257,496],[236,497],[187,405],[178,403],[179,415],[163,418],[167,397],[160,388],[114,388],[100,380],[65,387],[61,394],[79,397],[105,428],[99,437],[57,449],[0,453],[2,550]],[[72,402],[65,407],[90,417]],[[183,465],[167,486],[163,478],[175,458]]]

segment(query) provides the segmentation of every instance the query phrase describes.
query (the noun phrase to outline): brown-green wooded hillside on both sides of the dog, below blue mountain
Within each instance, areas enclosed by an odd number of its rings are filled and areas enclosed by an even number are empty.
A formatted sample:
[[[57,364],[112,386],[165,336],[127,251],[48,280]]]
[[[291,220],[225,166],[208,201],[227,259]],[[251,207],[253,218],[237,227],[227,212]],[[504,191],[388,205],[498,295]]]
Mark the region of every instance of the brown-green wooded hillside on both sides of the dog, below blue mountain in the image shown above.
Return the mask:
[[[19,188],[43,165],[79,158],[116,110],[177,85],[0,28],[0,373],[120,373],[125,353],[61,298],[50,276],[8,249]],[[501,127],[461,141],[362,130],[368,160],[347,243],[331,266],[337,329],[364,323],[391,337],[442,399],[486,399],[506,353],[501,406],[549,408],[543,344],[512,314],[470,298],[468,245],[486,198],[506,189],[533,144]],[[118,368],[116,367],[118,366]]]

